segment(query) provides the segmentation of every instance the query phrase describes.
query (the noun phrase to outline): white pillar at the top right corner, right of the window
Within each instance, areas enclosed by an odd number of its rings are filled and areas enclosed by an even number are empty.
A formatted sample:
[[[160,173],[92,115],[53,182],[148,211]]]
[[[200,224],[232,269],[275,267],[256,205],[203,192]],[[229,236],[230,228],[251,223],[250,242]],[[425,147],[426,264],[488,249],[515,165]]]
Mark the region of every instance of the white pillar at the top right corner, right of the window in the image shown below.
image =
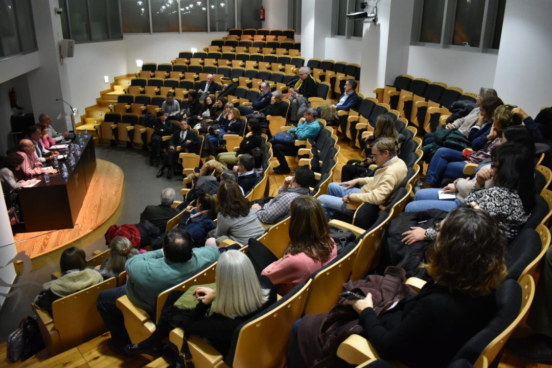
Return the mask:
[[[552,96],[552,2],[508,0],[496,62],[495,89],[505,103],[537,115]]]

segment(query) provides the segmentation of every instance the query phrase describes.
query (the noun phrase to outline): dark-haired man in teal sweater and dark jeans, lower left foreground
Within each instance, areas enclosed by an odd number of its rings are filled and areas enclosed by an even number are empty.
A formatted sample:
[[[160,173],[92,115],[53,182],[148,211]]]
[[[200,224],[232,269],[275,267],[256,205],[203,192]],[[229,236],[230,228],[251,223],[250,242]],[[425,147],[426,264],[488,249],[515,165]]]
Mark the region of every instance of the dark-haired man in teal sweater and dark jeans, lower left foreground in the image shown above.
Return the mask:
[[[122,351],[123,346],[130,344],[123,313],[116,306],[118,298],[127,295],[155,321],[157,296],[213,264],[219,255],[215,247],[193,248],[190,236],[176,228],[165,235],[162,249],[127,260],[126,284],[102,291],[96,301],[98,312],[111,332],[113,347]]]

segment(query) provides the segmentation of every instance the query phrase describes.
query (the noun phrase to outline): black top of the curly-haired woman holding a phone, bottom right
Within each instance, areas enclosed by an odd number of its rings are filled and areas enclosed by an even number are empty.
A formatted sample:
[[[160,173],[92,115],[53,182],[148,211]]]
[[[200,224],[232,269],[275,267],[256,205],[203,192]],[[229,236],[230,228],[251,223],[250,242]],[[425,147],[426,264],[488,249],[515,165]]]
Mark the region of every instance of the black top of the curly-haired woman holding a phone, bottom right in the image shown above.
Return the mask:
[[[366,308],[359,320],[381,358],[408,367],[445,367],[495,313],[495,293],[472,298],[430,281],[379,319]]]

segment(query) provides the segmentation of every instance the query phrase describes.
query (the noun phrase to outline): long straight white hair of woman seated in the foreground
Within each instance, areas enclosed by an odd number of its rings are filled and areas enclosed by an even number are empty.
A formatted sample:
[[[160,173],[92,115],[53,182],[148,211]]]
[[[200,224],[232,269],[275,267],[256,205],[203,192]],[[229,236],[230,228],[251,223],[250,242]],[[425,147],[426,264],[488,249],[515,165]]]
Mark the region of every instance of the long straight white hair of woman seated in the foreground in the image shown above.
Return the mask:
[[[261,287],[247,255],[238,250],[227,250],[220,255],[216,264],[215,290],[213,311],[229,318],[257,311],[267,302],[270,293]]]

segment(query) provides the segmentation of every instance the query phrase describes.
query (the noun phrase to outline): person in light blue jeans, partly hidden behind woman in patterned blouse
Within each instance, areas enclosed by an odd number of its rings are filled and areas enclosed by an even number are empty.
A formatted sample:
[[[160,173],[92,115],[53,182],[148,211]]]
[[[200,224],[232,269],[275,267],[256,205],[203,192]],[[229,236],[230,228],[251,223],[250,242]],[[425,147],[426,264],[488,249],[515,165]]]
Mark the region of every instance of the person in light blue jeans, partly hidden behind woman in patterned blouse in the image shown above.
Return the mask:
[[[532,166],[532,160],[535,157],[535,143],[533,141],[533,135],[524,125],[513,125],[508,126],[505,130],[502,131],[502,141],[501,145],[506,143],[518,143],[519,145],[527,148],[529,152],[529,157],[527,162],[519,161],[518,164],[526,165],[527,168]],[[491,188],[495,185],[493,180],[493,170],[492,163],[488,163],[479,167],[476,179],[479,178],[480,183],[482,180],[487,178],[491,174],[491,178],[485,181],[485,189]],[[524,168],[519,168],[519,170],[525,170]],[[515,179],[517,180],[517,179]],[[510,180],[508,180],[509,182]],[[420,189],[416,192],[414,200],[406,205],[405,212],[417,212],[425,211],[432,208],[436,208],[443,211],[450,211],[459,205],[464,203],[464,199],[471,193],[474,189],[475,183],[477,180],[471,178],[464,179],[459,178],[454,180],[453,183],[447,184],[443,189],[438,188],[426,188]],[[439,191],[443,190],[445,194],[454,194],[455,199],[439,199]]]

